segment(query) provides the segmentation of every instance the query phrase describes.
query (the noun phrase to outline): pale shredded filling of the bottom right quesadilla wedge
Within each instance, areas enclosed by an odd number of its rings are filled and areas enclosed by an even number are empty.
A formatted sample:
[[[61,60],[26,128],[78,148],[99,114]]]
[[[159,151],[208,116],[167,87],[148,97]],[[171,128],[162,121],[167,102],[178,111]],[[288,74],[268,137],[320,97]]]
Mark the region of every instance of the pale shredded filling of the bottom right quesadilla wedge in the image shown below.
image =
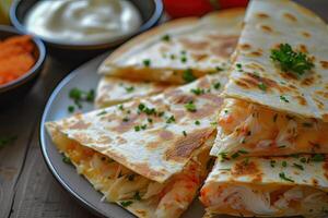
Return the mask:
[[[201,190],[201,202],[209,211],[237,216],[328,215],[328,195],[301,185],[255,185],[209,182]]]

